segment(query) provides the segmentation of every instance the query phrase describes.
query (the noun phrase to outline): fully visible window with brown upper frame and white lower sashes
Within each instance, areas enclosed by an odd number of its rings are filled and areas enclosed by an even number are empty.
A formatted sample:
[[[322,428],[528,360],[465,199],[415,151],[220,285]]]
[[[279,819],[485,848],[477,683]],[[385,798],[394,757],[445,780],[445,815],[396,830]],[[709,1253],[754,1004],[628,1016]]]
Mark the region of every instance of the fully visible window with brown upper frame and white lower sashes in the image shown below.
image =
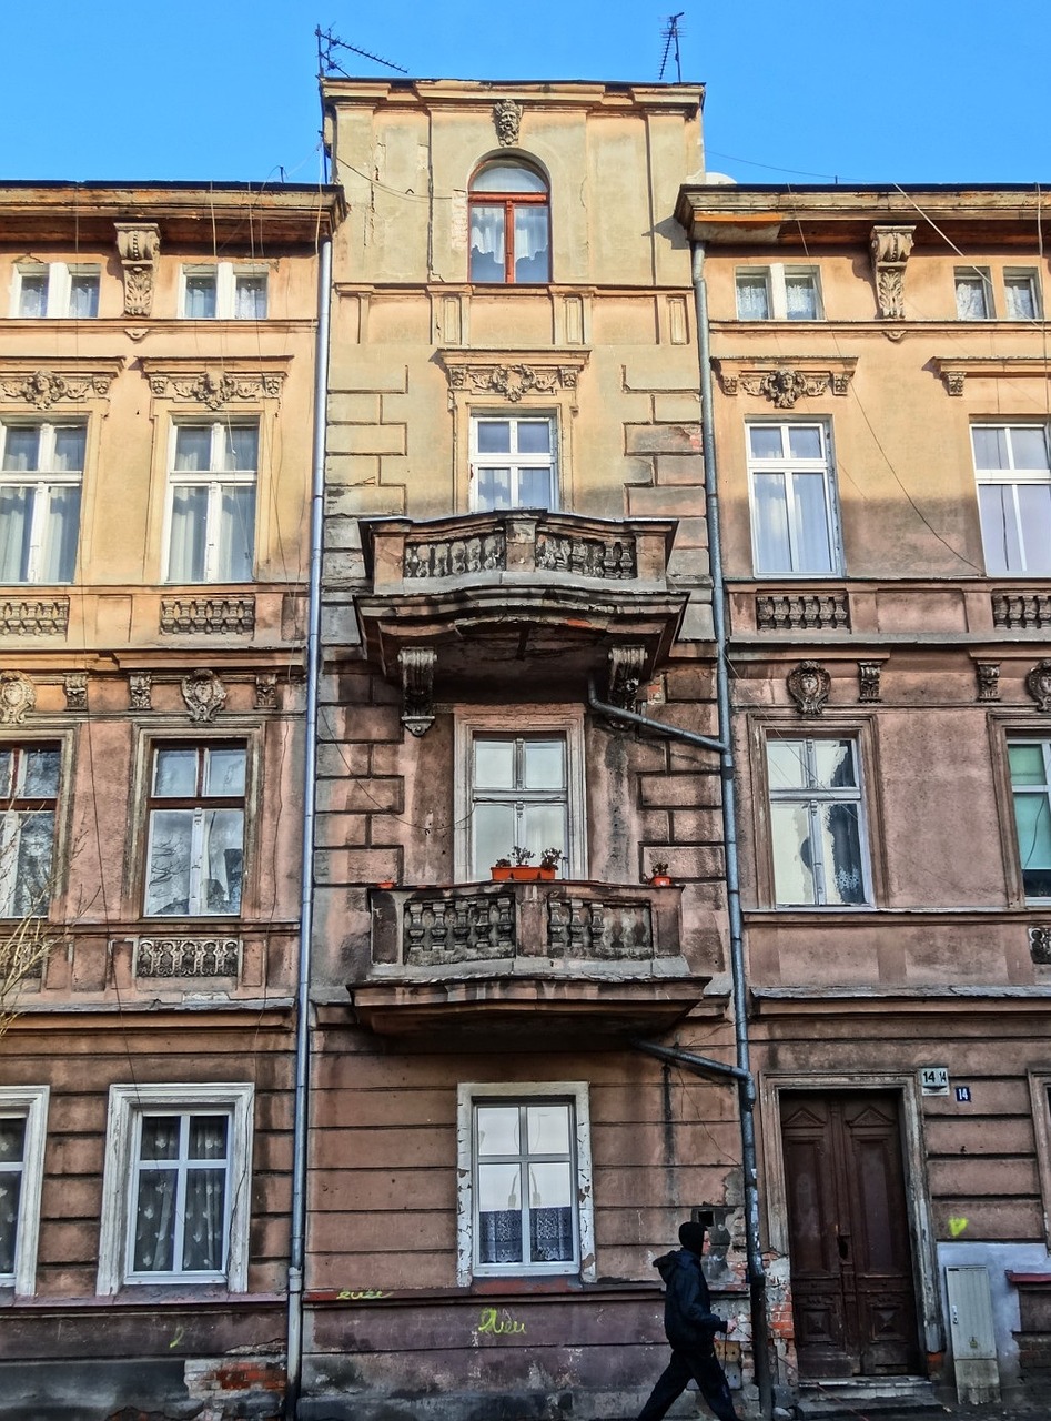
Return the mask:
[[[153,749],[148,917],[241,911],[246,755],[219,740]]]

